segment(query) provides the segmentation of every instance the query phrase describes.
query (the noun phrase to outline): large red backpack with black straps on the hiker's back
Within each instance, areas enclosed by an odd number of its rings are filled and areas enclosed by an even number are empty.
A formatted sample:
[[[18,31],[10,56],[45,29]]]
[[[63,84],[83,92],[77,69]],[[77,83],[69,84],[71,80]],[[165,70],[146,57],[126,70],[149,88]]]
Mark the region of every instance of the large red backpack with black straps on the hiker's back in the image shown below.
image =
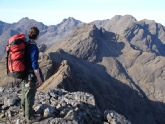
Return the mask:
[[[7,74],[23,79],[25,76],[25,45],[26,37],[23,33],[12,36],[6,46],[7,51]]]

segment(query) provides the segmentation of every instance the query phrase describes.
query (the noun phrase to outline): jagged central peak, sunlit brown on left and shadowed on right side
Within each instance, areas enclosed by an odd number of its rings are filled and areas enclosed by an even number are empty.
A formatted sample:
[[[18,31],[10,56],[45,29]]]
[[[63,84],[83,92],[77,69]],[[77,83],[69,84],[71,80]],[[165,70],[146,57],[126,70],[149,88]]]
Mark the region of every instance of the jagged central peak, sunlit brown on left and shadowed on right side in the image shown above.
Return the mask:
[[[104,28],[99,29],[92,23],[82,24],[76,27],[64,42],[52,46],[47,52],[63,48],[71,55],[90,62],[95,62],[99,56],[102,56],[101,53],[104,50],[104,52],[109,54],[110,44],[115,42],[115,37],[116,34],[107,32]],[[101,50],[103,48],[104,50]]]

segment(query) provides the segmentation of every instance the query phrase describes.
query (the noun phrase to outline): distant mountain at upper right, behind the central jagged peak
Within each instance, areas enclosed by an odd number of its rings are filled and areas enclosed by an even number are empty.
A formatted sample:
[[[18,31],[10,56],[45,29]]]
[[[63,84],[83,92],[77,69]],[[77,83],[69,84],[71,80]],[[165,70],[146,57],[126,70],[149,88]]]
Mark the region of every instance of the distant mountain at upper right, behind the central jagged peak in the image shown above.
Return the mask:
[[[131,15],[114,16],[110,20],[93,21],[98,27],[127,38],[134,49],[165,56],[165,28],[153,20],[137,21]]]

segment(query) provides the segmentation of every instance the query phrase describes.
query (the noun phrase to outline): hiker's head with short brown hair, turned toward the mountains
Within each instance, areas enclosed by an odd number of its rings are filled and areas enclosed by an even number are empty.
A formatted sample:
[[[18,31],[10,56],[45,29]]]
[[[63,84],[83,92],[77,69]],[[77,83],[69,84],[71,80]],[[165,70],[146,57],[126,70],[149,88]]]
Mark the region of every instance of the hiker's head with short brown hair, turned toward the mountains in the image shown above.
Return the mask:
[[[37,27],[31,27],[28,32],[29,39],[37,40],[39,33],[40,31]]]

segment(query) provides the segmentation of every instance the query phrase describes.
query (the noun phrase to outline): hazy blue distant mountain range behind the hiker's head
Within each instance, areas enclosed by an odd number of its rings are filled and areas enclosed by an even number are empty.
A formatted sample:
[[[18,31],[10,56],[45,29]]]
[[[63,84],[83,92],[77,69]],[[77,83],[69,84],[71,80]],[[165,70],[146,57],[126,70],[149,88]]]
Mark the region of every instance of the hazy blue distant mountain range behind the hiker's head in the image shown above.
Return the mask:
[[[81,24],[80,21],[69,17],[57,25],[46,26],[27,17],[22,18],[17,23],[8,24],[0,22],[0,56],[4,55],[5,46],[11,36],[23,32],[28,40],[28,30],[31,26],[37,26],[40,30],[38,44],[45,44],[47,47],[63,40],[72,29]]]

